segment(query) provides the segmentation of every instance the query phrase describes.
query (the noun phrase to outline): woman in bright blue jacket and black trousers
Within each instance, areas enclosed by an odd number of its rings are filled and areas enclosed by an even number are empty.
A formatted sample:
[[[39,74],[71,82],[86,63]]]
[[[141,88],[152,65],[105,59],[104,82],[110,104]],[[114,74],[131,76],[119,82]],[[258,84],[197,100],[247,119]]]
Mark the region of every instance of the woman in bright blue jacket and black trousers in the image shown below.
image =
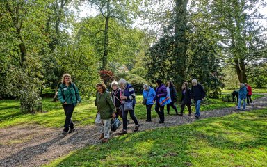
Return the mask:
[[[147,100],[147,103],[145,104],[145,107],[147,109],[147,120],[145,121],[151,122],[151,109],[154,104],[153,100],[156,96],[156,92],[154,88],[151,88],[147,84],[144,84],[143,88],[143,98]]]

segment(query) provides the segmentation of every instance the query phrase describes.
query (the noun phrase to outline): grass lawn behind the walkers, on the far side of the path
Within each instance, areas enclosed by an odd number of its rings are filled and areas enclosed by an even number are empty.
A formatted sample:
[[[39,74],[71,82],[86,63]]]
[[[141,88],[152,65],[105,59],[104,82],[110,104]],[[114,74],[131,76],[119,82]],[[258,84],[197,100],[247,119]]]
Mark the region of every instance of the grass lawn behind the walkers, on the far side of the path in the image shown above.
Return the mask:
[[[253,95],[252,99],[261,97],[262,95]],[[138,119],[146,118],[145,106],[141,104],[143,97],[137,95],[135,113]],[[45,125],[46,127],[62,127],[65,122],[65,113],[60,102],[51,102],[52,99],[46,98],[43,100],[44,113],[22,114],[20,112],[19,101],[16,100],[0,100],[0,128],[24,123],[33,123],[38,125]],[[221,109],[225,107],[235,106],[232,102],[223,102],[221,99],[206,99],[202,103],[201,110]],[[180,104],[177,104],[178,111],[180,111]],[[192,106],[193,112],[195,111]],[[165,107],[165,113],[166,113]],[[184,111],[188,113],[187,108]],[[94,123],[97,109],[94,102],[82,102],[74,109],[72,120],[75,125],[90,125]],[[171,114],[175,114],[173,109],[170,109]],[[152,108],[152,118],[157,117],[157,113]]]

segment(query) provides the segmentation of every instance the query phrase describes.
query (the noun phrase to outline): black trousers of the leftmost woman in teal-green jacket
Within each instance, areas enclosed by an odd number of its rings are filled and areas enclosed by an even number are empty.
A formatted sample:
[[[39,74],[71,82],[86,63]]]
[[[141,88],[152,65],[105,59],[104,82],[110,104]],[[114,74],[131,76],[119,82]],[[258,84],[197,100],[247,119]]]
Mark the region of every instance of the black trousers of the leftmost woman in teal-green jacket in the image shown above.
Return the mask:
[[[74,104],[63,104],[63,108],[65,111],[65,124],[64,124],[64,131],[68,132],[69,128],[73,129],[74,128],[74,124],[72,122],[72,113],[74,111]]]

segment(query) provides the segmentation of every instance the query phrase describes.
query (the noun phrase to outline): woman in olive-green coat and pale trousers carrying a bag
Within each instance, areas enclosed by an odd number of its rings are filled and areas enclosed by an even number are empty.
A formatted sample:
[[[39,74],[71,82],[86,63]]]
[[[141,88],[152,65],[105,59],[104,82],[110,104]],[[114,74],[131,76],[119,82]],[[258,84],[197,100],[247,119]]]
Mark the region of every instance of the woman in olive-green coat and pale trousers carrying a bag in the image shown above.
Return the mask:
[[[97,97],[95,99],[95,106],[97,106],[97,116],[95,118],[95,125],[100,134],[99,140],[102,140],[102,143],[106,143],[110,136],[111,118],[116,117],[116,109],[110,94],[106,91],[106,85],[99,83],[96,87]]]

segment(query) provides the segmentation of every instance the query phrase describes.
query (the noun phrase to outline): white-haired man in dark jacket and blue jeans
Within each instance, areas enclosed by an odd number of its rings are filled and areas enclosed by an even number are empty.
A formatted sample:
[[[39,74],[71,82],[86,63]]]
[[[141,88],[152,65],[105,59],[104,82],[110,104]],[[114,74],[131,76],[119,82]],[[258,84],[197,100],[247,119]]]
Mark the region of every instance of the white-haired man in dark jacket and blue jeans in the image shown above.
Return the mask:
[[[201,84],[197,84],[197,79],[192,79],[192,97],[195,101],[195,118],[200,118],[200,103],[205,98],[205,91]]]

